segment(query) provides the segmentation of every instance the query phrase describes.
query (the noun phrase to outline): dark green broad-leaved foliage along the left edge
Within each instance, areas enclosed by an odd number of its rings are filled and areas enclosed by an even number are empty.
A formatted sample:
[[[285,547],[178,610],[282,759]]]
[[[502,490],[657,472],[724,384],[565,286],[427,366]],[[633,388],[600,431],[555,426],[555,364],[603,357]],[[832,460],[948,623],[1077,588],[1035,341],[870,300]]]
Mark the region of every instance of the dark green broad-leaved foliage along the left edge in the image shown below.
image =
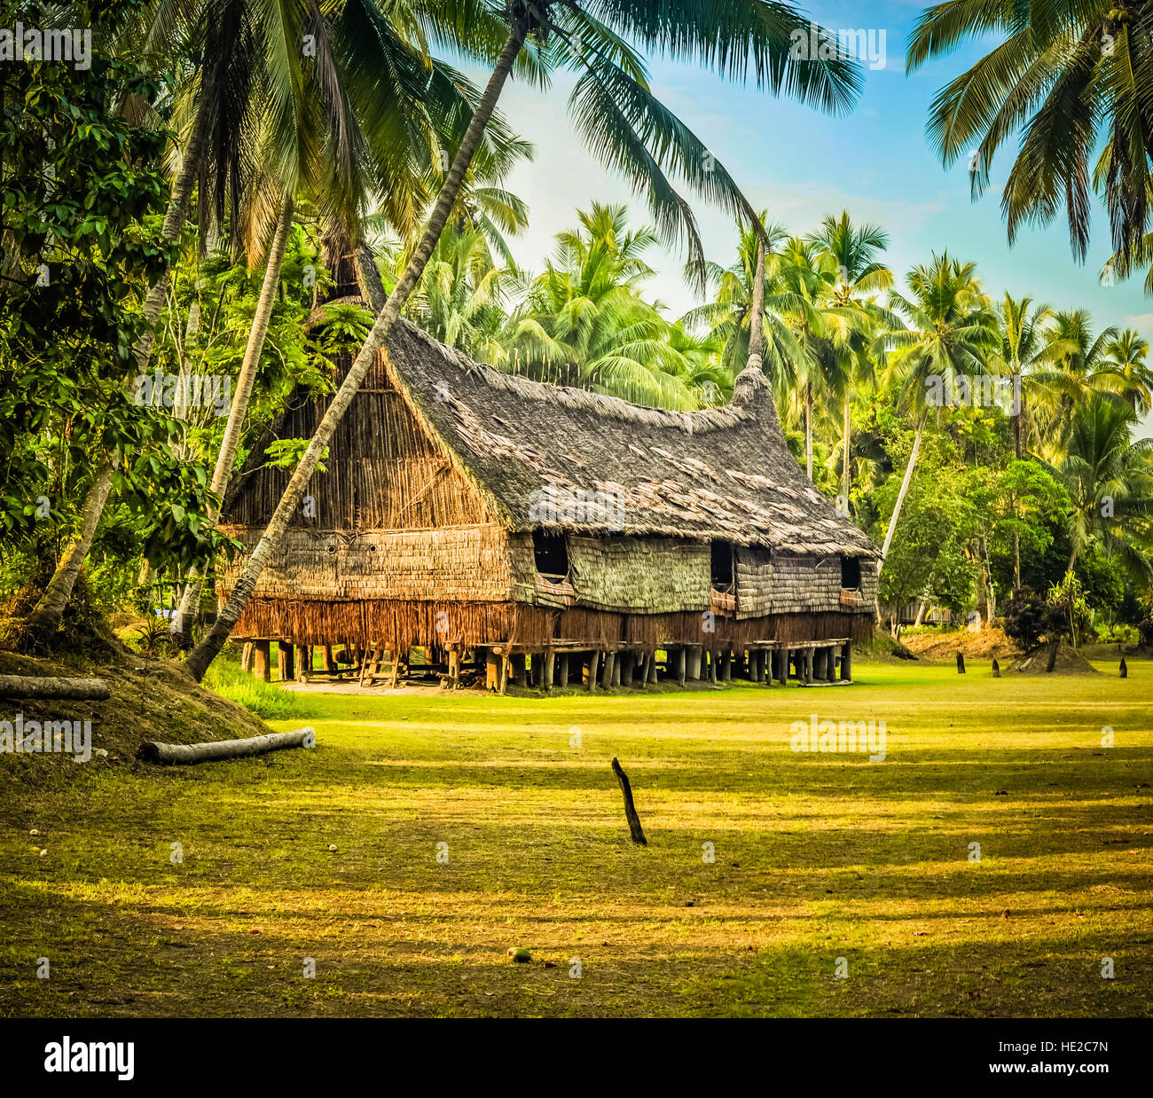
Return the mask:
[[[78,14],[111,27],[131,7]],[[219,543],[203,522],[205,469],[182,459],[172,418],[140,406],[131,385],[138,304],[168,257],[157,232],[167,135],[114,105],[165,93],[153,73],[98,50],[86,70],[0,66],[0,528],[14,551],[63,534],[106,461],[153,559]]]

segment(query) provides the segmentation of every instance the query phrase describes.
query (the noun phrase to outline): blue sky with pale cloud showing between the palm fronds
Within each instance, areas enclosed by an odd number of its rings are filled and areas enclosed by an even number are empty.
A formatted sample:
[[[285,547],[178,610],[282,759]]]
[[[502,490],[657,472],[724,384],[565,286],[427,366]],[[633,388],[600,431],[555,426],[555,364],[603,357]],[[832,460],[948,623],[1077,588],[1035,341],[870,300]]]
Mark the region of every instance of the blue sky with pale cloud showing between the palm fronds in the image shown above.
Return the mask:
[[[754,208],[768,208],[770,220],[793,232],[807,232],[826,212],[850,211],[854,220],[876,221],[890,235],[888,262],[898,278],[933,251],[948,249],[977,262],[995,299],[1009,289],[1031,294],[1055,308],[1087,308],[1098,328],[1136,328],[1153,340],[1153,300],[1143,277],[1103,286],[1101,265],[1109,257],[1108,221],[1099,210],[1088,258],[1078,264],[1070,251],[1063,213],[1046,230],[1026,227],[1010,248],[1001,218],[1000,196],[1009,170],[1003,151],[993,165],[989,189],[977,202],[969,191],[966,163],[945,171],[925,137],[929,103],[937,89],[963,72],[984,51],[972,46],[905,76],[905,39],[922,3],[822,2],[808,6],[814,18],[831,29],[886,32],[886,67],[866,69],[864,95],[856,110],[829,118],[787,99],[775,99],[719,80],[696,68],[651,59],[657,96],[704,141]],[[480,73],[473,75],[480,76]],[[513,241],[520,263],[538,270],[552,248],[552,236],[575,223],[575,210],[600,201],[627,202],[638,223],[643,201],[618,176],[600,167],[567,122],[571,85],[557,81],[542,96],[510,84],[500,107],[513,127],[536,145],[536,159],[508,180],[530,210],[530,228]],[[1011,149],[1008,151],[1012,151]],[[694,200],[706,254],[731,262],[736,227],[722,211]],[[657,269],[649,293],[680,315],[695,301],[681,274],[684,255],[654,253]],[[1144,434],[1153,434],[1146,424]]]

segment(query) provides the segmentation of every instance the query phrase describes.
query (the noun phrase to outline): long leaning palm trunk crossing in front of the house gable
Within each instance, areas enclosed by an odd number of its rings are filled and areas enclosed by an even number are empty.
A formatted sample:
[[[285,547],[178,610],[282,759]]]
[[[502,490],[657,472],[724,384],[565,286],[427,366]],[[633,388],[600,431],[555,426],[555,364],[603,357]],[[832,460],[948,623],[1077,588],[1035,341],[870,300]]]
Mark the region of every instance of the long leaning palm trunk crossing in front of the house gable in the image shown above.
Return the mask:
[[[369,332],[368,340],[361,348],[360,354],[356,355],[356,360],[353,362],[340,389],[337,391],[332,404],[329,406],[329,411],[325,412],[324,419],[321,420],[321,424],[309,442],[304,456],[300,459],[296,471],[288,481],[288,487],[280,497],[280,503],[277,504],[267,528],[264,531],[253,555],[248,558],[243,572],[232,589],[227,604],[217,617],[216,625],[189,655],[187,665],[197,682],[204,677],[209,664],[224,647],[228,634],[240,619],[244,607],[248,606],[249,599],[253,597],[253,592],[256,589],[261,573],[279,549],[285,532],[288,529],[288,524],[296,514],[304,488],[308,486],[309,480],[311,480],[317,461],[319,461],[321,454],[324,453],[332,433],[337,429],[337,424],[352,405],[356,391],[360,389],[364,376],[376,360],[377,352],[385,345],[392,325],[397,322],[397,317],[400,316],[400,310],[405,307],[413,289],[416,287],[416,283],[424,272],[429,257],[432,255],[432,249],[440,239],[440,233],[449,220],[449,213],[460,191],[465,173],[468,171],[473,156],[481,143],[484,128],[492,116],[497,99],[500,98],[500,90],[508,78],[508,73],[517,60],[517,54],[520,53],[526,32],[526,27],[520,21],[513,24],[508,40],[500,53],[500,59],[497,61],[488,87],[484,89],[484,95],[481,97],[481,101],[477,104],[476,111],[468,123],[468,129],[465,131],[460,148],[457,150],[457,156],[452,161],[452,168],[445,180],[444,189],[437,198],[432,216],[429,218],[429,224],[424,230],[424,235],[421,236],[421,242],[417,245],[416,251],[400,276],[395,289],[393,289],[384,308],[380,310],[376,324],[372,325],[372,331]]]

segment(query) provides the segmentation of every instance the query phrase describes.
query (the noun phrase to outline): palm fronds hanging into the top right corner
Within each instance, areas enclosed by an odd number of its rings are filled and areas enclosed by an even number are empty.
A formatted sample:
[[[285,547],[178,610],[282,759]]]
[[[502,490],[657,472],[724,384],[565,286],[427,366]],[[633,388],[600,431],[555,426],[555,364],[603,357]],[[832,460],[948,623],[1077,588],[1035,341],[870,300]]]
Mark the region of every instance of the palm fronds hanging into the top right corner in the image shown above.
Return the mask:
[[[1018,141],[1001,198],[1010,241],[1026,221],[1046,225],[1064,205],[1073,253],[1084,260],[1095,181],[1114,250],[1140,250],[1153,153],[1151,33],[1147,5],[1116,0],[944,0],[922,13],[909,38],[909,73],[971,39],[998,39],[941,89],[927,129],[947,166],[972,155],[974,197],[996,151]]]

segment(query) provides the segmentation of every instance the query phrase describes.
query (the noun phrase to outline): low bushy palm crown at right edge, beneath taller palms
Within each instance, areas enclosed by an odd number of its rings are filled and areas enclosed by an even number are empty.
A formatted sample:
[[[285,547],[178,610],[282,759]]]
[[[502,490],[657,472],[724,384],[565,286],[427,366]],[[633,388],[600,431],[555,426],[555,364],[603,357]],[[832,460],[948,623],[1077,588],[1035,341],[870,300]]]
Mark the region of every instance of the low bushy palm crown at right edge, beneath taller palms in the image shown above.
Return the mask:
[[[1136,577],[1153,577],[1153,439],[1132,442],[1133,421],[1128,405],[1106,393],[1093,393],[1073,409],[1057,466],[1072,502],[1070,572],[1098,537],[1107,551],[1121,554]]]

